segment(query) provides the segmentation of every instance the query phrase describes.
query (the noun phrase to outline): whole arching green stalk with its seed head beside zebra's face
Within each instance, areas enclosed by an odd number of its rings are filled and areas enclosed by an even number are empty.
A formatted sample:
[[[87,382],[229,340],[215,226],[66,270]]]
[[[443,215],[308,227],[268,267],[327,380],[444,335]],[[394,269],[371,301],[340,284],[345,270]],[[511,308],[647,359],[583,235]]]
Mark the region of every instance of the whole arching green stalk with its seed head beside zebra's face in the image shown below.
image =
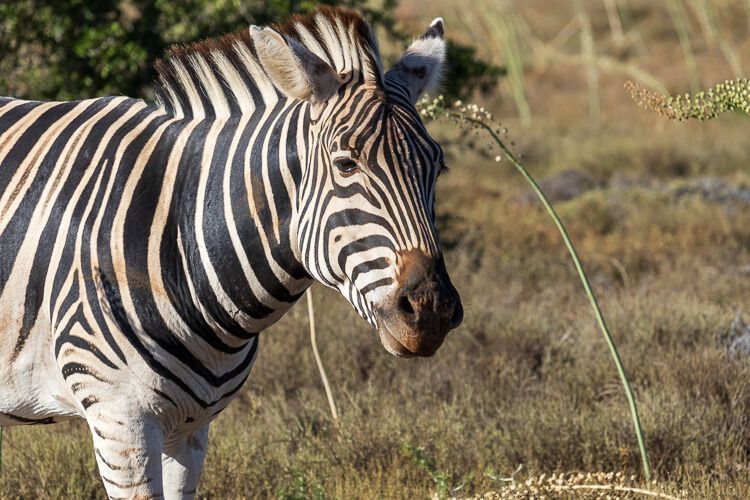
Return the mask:
[[[496,128],[493,126],[492,115],[489,112],[485,111],[484,108],[480,108],[476,104],[463,106],[460,101],[457,101],[454,106],[449,109],[445,107],[444,98],[442,96],[434,99],[431,103],[424,103],[423,101],[421,108],[422,109],[420,112],[425,117],[438,118],[440,116],[447,116],[453,119],[459,125],[461,123],[467,123],[474,128],[487,132],[490,137],[492,137],[492,140],[495,142],[495,144],[497,144],[497,146],[500,148],[505,157],[513,164],[514,167],[516,167],[516,169],[521,173],[523,178],[526,179],[529,185],[531,185],[531,188],[539,198],[539,201],[541,201],[545,210],[552,218],[552,221],[555,223],[557,230],[560,232],[560,236],[562,236],[563,242],[565,243],[565,247],[568,249],[570,257],[573,259],[573,264],[575,265],[576,271],[578,272],[578,277],[581,279],[583,288],[586,291],[586,296],[588,297],[589,303],[591,304],[591,309],[593,310],[594,316],[596,317],[596,322],[599,326],[599,330],[604,336],[604,340],[607,343],[607,347],[609,348],[609,352],[612,355],[612,359],[614,360],[615,366],[617,368],[617,374],[619,375],[620,382],[622,383],[623,389],[625,390],[625,395],[628,400],[628,406],[630,408],[630,416],[633,421],[633,427],[635,429],[635,435],[638,441],[638,450],[640,452],[641,462],[643,465],[643,475],[647,481],[650,481],[651,464],[648,458],[646,442],[643,438],[641,420],[638,415],[638,405],[635,401],[633,389],[630,386],[630,381],[628,380],[627,373],[625,372],[625,368],[623,367],[620,353],[617,350],[617,345],[615,344],[614,338],[612,337],[612,334],[607,327],[607,323],[604,320],[604,315],[602,314],[599,303],[596,300],[594,291],[591,288],[591,284],[589,283],[589,279],[586,275],[586,271],[583,268],[581,259],[578,257],[578,252],[573,246],[573,242],[571,241],[570,236],[568,235],[568,231],[567,229],[565,229],[565,225],[562,223],[562,220],[557,215],[557,212],[552,207],[552,204],[549,202],[547,196],[539,187],[539,184],[536,182],[536,180],[534,180],[529,171],[526,170],[526,168],[516,159],[510,148],[508,148],[505,145],[505,142],[503,142],[503,140],[500,138],[501,132],[499,130],[496,130]],[[500,161],[500,159],[500,156],[496,158],[497,161]]]

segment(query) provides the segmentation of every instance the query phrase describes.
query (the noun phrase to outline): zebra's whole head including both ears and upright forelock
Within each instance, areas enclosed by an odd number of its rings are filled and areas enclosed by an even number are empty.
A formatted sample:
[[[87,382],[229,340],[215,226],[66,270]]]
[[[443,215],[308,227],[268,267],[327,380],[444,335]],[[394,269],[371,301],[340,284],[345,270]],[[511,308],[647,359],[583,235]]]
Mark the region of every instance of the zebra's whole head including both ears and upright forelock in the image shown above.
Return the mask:
[[[398,356],[431,356],[463,318],[435,228],[443,152],[415,107],[439,84],[443,33],[438,18],[383,73],[371,31],[355,14],[326,9],[251,29],[274,85],[308,103],[292,223],[301,261]]]

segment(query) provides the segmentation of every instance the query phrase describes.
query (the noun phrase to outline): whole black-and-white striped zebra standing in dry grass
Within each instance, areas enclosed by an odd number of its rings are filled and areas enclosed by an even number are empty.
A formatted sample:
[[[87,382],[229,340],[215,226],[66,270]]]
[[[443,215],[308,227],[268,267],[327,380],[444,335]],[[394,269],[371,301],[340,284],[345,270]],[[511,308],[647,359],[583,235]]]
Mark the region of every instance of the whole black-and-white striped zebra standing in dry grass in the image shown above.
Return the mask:
[[[110,498],[192,498],[259,333],[314,281],[387,351],[463,318],[416,101],[435,19],[383,71],[324,7],[171,48],[153,103],[0,99],[0,426],[86,420]]]

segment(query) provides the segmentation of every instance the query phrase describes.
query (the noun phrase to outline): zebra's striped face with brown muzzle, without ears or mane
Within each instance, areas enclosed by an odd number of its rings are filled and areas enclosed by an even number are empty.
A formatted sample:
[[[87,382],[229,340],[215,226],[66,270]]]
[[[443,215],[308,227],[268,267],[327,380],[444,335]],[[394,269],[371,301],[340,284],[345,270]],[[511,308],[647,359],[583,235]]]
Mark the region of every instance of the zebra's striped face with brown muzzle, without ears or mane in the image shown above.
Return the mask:
[[[463,318],[435,229],[443,153],[408,95],[387,89],[358,89],[333,107],[318,144],[319,231],[303,248],[317,249],[315,278],[336,287],[389,352],[431,356]]]

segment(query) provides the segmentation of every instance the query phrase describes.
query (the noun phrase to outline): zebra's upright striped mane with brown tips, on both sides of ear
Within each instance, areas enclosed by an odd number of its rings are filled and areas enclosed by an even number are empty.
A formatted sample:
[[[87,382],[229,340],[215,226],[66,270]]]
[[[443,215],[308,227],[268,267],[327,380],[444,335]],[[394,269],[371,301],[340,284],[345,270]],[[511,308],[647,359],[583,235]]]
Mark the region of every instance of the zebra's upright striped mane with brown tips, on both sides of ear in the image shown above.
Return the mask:
[[[271,26],[331,65],[382,86],[377,42],[367,23],[352,11],[322,7]],[[249,30],[174,46],[156,62],[156,100],[177,116],[202,118],[252,113],[283,98],[263,70]]]

